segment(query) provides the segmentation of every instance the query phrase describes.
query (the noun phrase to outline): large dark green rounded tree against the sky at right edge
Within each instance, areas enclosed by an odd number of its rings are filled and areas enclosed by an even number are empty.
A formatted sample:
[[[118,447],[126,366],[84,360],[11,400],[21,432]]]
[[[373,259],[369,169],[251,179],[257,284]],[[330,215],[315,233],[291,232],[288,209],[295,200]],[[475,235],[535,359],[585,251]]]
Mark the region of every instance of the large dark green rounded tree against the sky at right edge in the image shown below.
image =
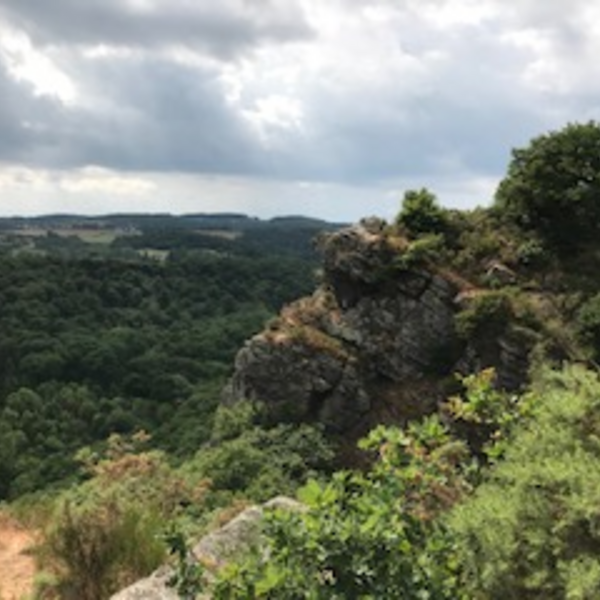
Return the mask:
[[[496,193],[499,211],[561,249],[594,240],[600,223],[600,125],[571,123],[512,154]]]

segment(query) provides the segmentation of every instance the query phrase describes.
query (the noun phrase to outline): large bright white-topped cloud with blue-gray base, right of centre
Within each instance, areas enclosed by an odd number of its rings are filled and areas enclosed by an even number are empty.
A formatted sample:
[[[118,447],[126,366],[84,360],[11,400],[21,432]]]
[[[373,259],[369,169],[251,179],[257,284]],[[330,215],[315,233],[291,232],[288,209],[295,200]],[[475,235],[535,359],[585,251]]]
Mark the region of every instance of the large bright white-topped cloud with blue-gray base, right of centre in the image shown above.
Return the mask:
[[[493,36],[483,16],[454,15],[453,28],[438,31],[439,14],[401,4],[341,12],[323,3],[312,12],[318,45],[265,53],[230,74],[247,116],[277,84],[294,103],[294,127],[264,127],[274,172],[355,183],[498,173],[511,142],[543,127],[518,81],[527,51]]]

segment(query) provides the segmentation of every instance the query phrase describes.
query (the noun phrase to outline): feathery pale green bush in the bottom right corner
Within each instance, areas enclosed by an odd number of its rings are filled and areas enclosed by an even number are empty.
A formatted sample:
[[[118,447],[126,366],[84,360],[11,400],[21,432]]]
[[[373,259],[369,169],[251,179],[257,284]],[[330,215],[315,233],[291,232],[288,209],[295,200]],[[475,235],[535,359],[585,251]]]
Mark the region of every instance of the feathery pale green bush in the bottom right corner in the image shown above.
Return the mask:
[[[600,382],[545,372],[503,460],[453,510],[470,598],[598,597]]]

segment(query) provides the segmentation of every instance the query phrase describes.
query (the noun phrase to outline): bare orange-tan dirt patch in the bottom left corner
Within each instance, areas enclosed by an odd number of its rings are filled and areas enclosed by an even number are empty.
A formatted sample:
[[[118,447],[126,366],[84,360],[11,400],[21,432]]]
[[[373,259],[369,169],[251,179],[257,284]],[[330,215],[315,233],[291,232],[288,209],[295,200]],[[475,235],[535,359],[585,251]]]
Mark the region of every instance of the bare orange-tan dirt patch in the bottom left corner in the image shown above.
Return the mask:
[[[31,593],[35,562],[26,551],[34,543],[30,531],[0,515],[0,600],[19,600]]]

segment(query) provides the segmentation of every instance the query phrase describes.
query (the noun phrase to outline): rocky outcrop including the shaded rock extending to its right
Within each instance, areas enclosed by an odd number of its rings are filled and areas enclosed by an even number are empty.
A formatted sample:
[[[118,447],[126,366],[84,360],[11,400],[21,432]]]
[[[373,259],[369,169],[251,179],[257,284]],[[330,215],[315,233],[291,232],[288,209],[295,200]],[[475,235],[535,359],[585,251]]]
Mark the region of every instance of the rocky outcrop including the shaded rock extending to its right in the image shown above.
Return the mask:
[[[455,316],[468,283],[409,265],[407,247],[380,222],[324,238],[322,284],[240,350],[223,402],[260,401],[275,421],[362,435],[382,418],[435,410],[457,370],[494,366],[501,385],[522,384],[529,348],[509,330],[462,339]]]

